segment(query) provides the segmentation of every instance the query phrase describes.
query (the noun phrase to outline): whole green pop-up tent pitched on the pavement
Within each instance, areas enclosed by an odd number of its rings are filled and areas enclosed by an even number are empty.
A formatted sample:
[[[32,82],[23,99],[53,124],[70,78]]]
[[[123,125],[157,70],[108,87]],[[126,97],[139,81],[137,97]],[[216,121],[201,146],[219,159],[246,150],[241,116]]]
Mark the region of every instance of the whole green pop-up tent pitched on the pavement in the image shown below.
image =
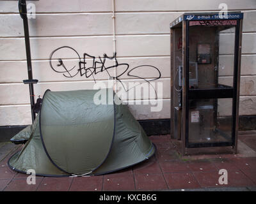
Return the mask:
[[[53,177],[101,175],[152,156],[156,148],[127,105],[113,103],[113,90],[102,90],[112,103],[94,103],[99,90],[47,90],[33,124],[11,139],[26,143],[9,159],[10,168]]]

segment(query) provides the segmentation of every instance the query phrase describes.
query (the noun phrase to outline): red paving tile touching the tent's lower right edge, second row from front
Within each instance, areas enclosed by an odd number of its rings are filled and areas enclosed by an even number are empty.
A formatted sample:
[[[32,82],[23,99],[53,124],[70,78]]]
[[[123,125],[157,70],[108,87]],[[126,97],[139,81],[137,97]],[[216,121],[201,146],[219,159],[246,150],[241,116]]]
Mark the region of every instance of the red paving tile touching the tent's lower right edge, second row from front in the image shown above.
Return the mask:
[[[157,161],[144,161],[133,167],[133,172],[137,173],[162,173]]]

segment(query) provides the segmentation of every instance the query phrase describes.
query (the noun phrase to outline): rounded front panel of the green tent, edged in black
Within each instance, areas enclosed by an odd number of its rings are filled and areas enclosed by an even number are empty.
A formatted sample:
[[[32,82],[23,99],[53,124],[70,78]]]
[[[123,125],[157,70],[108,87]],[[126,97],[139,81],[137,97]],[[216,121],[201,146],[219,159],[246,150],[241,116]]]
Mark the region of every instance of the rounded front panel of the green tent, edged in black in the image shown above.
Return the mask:
[[[104,89],[113,101],[113,90]],[[115,106],[97,104],[99,90],[45,92],[40,135],[52,163],[70,175],[86,175],[104,163],[115,135]]]

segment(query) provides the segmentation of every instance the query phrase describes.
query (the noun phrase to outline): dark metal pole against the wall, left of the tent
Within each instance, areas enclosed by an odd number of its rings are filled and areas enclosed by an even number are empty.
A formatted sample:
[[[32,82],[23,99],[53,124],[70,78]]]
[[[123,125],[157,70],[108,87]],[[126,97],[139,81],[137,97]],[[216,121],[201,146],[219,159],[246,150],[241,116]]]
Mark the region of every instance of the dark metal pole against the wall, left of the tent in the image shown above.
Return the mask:
[[[19,12],[20,12],[20,17],[23,19],[24,37],[25,37],[25,45],[26,45],[26,57],[27,57],[27,66],[28,66],[28,80],[23,80],[23,82],[24,84],[29,84],[31,117],[32,117],[32,122],[34,122],[36,115],[35,115],[35,112],[33,111],[33,107],[35,105],[33,84],[36,84],[38,80],[33,80],[26,0],[19,0]]]

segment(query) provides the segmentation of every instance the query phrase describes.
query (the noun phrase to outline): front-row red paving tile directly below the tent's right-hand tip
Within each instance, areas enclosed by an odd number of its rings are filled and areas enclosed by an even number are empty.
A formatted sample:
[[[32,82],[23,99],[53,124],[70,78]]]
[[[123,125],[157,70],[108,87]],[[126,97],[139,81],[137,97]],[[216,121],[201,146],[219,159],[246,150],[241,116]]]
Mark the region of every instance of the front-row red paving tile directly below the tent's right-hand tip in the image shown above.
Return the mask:
[[[161,190],[168,189],[163,174],[135,174],[136,190]]]

